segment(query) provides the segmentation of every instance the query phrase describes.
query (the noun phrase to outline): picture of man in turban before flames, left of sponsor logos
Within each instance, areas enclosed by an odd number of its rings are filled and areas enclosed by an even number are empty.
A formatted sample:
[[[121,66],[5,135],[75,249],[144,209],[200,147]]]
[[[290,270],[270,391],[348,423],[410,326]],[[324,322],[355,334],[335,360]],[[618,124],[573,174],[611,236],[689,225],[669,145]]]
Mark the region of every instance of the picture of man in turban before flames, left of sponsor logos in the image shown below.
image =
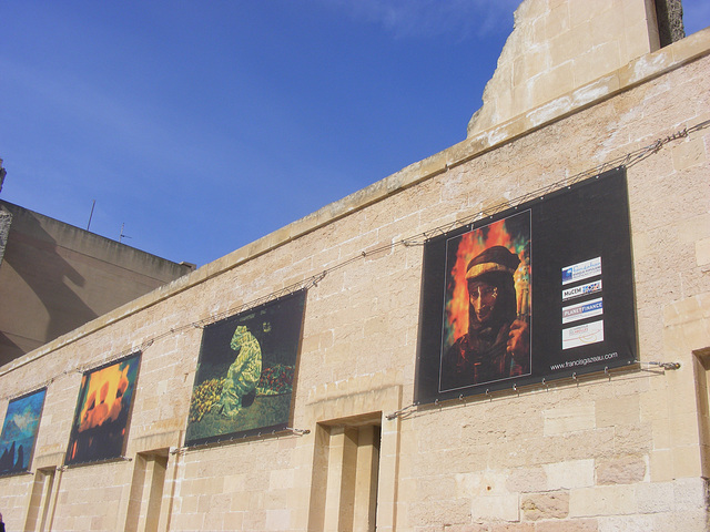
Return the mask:
[[[439,391],[530,374],[530,213],[446,243]]]

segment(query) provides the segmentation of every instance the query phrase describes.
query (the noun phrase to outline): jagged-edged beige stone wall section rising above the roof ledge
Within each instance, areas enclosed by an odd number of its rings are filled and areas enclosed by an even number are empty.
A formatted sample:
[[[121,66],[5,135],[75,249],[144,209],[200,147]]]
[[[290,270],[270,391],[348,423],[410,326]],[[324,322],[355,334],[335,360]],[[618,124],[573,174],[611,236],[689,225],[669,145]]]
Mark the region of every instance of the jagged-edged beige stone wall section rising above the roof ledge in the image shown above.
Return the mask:
[[[653,0],[526,0],[468,136],[658,50]]]

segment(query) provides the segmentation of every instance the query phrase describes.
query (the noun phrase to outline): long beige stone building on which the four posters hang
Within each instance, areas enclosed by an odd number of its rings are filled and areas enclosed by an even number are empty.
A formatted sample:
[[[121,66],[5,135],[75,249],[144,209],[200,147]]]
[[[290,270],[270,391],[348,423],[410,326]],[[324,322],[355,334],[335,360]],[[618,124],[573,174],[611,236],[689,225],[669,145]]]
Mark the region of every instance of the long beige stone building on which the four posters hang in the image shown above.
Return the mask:
[[[465,141],[0,367],[0,416],[47,390],[8,529],[708,530],[710,29],[655,13],[524,1]],[[426,242],[617,166],[635,362],[414,405]],[[203,336],[296,290],[287,428],[186,446]],[[68,464],[82,375],[138,351],[124,449]]]

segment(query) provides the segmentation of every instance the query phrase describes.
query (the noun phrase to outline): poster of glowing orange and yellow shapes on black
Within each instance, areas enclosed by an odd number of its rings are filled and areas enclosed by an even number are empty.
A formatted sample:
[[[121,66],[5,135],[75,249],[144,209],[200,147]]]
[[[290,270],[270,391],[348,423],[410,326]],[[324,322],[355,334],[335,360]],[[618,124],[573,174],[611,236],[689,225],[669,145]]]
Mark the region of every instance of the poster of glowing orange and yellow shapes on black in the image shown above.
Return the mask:
[[[120,458],[125,452],[141,352],[81,377],[64,464]]]

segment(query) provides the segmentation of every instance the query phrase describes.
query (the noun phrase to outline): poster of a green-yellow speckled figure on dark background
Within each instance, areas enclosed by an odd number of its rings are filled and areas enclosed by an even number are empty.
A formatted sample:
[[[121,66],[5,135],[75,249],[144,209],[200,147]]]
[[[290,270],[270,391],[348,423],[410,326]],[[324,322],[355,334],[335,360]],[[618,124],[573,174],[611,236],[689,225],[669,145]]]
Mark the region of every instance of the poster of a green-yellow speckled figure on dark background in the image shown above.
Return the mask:
[[[204,328],[186,446],[288,427],[305,298],[298,290]]]

